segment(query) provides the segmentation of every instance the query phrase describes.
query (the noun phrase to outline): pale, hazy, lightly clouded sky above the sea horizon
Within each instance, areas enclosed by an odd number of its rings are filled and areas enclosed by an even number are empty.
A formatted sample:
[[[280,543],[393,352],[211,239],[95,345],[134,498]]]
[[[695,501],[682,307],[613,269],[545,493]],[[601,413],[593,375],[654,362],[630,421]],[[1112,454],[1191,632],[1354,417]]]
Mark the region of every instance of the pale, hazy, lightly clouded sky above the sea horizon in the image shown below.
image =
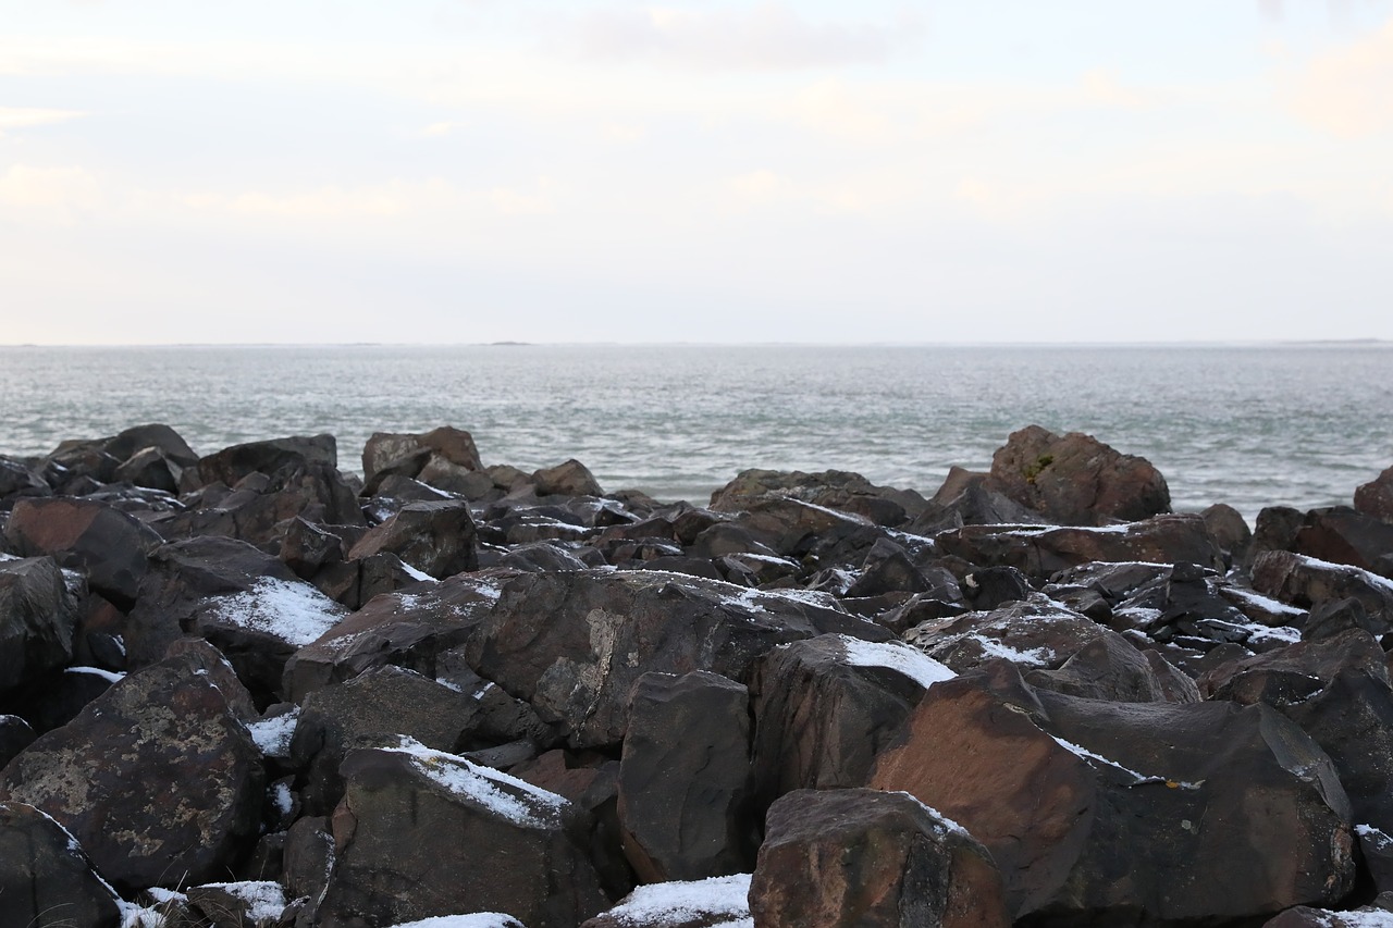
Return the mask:
[[[0,0],[0,344],[1393,339],[1393,0]]]

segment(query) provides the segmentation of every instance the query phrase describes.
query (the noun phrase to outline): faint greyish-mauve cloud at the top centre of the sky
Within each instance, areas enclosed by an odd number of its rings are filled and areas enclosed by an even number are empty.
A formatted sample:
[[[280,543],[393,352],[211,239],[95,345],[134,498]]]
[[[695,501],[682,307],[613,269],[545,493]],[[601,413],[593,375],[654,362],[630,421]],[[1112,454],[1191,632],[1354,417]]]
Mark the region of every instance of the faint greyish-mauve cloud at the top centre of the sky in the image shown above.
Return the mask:
[[[885,61],[921,28],[908,18],[889,26],[815,24],[787,6],[765,3],[749,11],[598,10],[574,21],[571,31],[591,59],[766,71]]]

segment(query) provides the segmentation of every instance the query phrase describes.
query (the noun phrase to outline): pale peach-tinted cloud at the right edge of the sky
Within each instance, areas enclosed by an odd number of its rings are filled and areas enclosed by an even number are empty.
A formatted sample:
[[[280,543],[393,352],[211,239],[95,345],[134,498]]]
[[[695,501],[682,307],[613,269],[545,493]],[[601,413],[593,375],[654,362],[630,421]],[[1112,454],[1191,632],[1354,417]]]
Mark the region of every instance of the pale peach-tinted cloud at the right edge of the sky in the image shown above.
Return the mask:
[[[1286,81],[1297,117],[1340,138],[1393,128],[1393,20],[1373,35],[1314,56]]]

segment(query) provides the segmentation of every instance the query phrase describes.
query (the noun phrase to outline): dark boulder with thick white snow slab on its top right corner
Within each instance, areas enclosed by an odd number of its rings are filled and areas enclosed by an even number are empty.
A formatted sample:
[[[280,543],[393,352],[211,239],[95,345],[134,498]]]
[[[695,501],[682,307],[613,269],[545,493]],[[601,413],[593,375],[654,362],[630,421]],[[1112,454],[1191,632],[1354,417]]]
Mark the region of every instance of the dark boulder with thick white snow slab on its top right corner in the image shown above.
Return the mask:
[[[914,648],[839,634],[765,654],[751,683],[758,808],[797,789],[865,786],[924,691],[953,676]]]

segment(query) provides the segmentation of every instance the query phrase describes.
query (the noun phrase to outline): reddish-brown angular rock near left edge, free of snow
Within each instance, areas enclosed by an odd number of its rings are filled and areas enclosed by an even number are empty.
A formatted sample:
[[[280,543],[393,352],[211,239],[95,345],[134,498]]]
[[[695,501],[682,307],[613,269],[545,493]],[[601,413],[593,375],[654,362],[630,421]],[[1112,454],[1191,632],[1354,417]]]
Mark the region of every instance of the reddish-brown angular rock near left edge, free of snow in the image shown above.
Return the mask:
[[[18,555],[52,555],[86,573],[88,584],[130,609],[160,536],[131,516],[82,499],[22,499],[10,513],[6,539]]]

